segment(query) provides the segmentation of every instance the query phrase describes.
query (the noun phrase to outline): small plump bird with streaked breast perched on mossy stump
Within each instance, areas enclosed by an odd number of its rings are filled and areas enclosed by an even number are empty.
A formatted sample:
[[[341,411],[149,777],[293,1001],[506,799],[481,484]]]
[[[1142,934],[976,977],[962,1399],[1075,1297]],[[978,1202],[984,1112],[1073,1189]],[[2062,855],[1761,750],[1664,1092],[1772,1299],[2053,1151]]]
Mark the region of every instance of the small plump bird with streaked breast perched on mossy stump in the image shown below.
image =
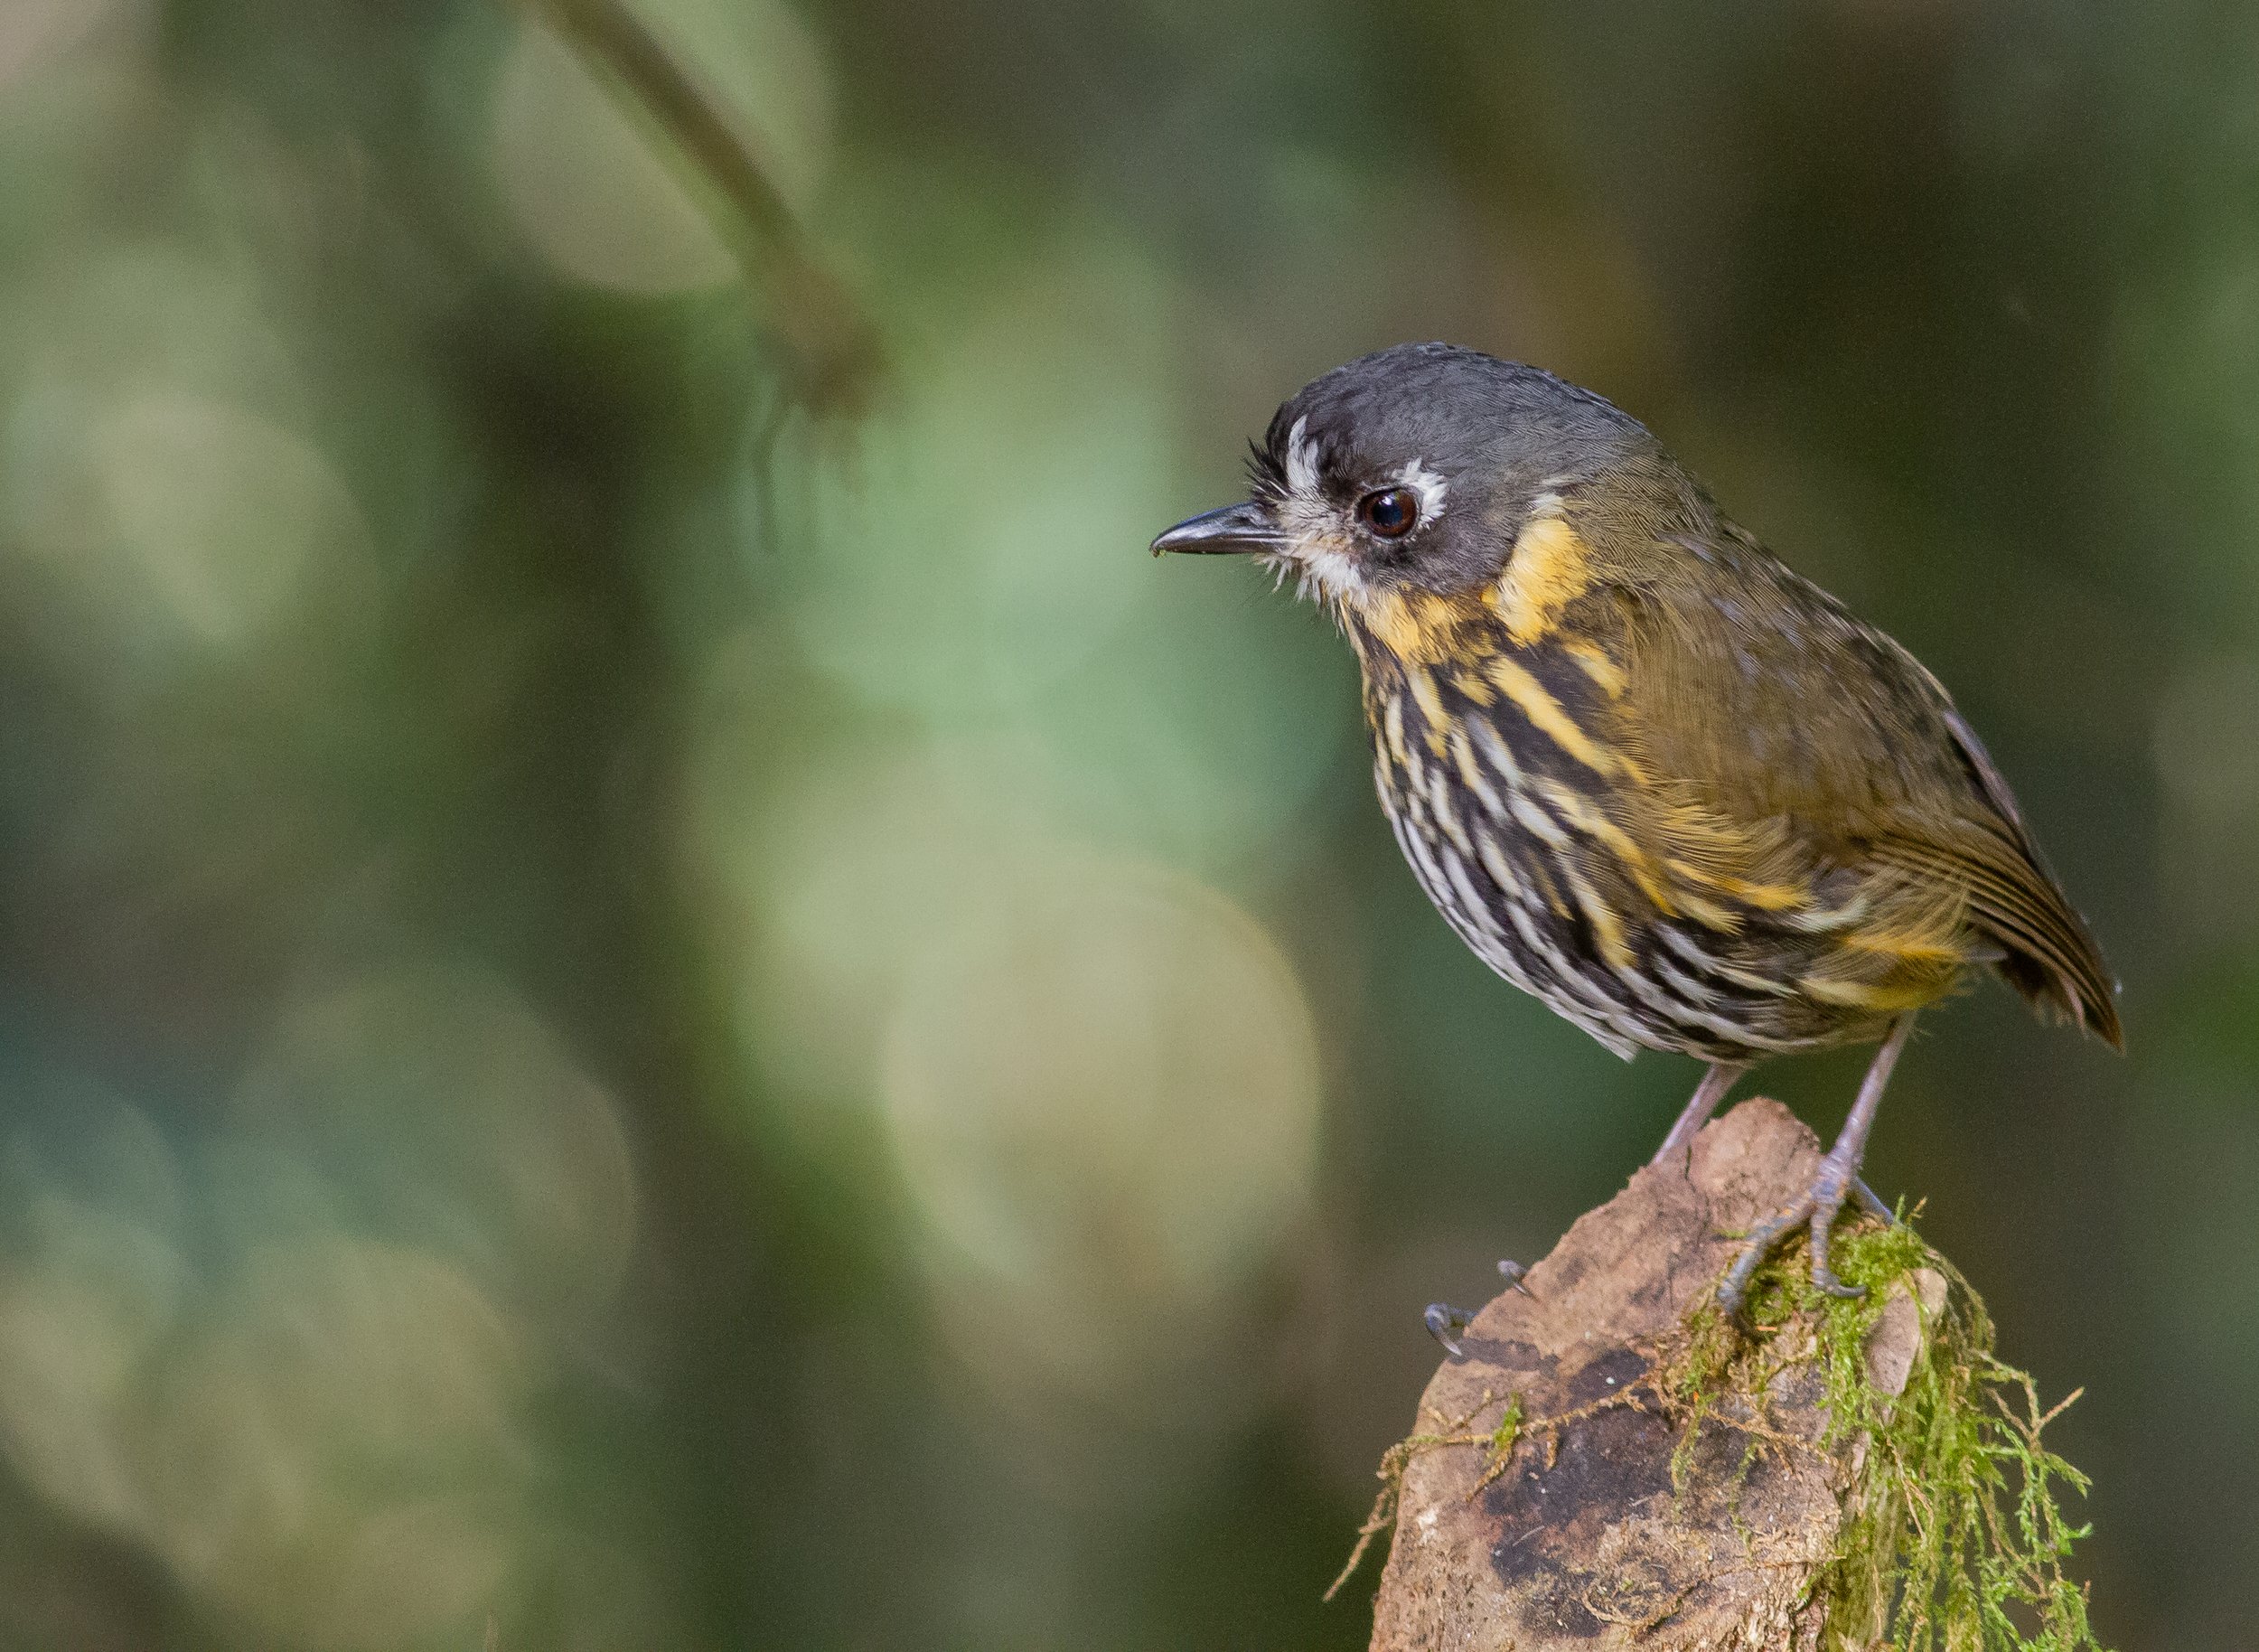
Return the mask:
[[[1251,497],[1161,551],[1297,579],[1364,671],[1373,777],[1475,954],[1617,1055],[1879,1040],[1800,1225],[1812,1279],[1913,1015],[1988,965],[2121,1046],[2114,985],[2015,795],[1911,653],[1730,522],[1645,425],[1518,362],[1412,344],[1288,400]]]

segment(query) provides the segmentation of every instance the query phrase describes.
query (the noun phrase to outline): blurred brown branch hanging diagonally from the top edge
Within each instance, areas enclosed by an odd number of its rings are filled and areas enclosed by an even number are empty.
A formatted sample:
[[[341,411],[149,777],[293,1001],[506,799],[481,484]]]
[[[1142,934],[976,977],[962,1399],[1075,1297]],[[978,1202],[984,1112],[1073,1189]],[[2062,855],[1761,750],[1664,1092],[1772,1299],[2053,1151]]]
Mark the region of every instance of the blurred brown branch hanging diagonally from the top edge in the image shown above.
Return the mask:
[[[800,389],[820,411],[861,407],[883,368],[879,332],[815,249],[721,102],[626,0],[517,0],[660,127],[727,206],[725,237],[766,289]]]

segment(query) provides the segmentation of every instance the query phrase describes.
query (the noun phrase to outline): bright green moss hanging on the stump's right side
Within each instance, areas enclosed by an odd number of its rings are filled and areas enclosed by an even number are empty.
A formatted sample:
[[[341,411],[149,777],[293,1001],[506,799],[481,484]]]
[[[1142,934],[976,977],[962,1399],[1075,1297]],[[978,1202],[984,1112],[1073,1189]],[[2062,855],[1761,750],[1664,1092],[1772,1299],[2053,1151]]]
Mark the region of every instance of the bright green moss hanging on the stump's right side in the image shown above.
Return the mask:
[[[1818,1360],[1823,1444],[1866,1437],[1846,1498],[1850,1523],[1814,1577],[1828,1600],[1825,1645],[2099,1652],[2085,1589],[2065,1571],[2090,1528],[2072,1525],[2058,1501],[2062,1487],[2083,1494],[2087,1478],[2042,1444],[2072,1401],[2040,1410],[2031,1376],[1992,1354],[1983,1302],[1911,1225],[1839,1234],[1834,1268],[1866,1295],[1814,1290],[1805,1252],[1791,1245],[1753,1281],[1746,1333],[1712,1306],[1681,1327],[1656,1383],[1685,1426],[1674,1478],[1683,1485],[1721,1394],[1764,1394],[1778,1370]],[[1936,1311],[1916,1290],[1922,1268],[1945,1281]],[[1891,1297],[1904,1293],[1925,1324],[1907,1385],[1891,1397],[1873,1385],[1866,1347]]]

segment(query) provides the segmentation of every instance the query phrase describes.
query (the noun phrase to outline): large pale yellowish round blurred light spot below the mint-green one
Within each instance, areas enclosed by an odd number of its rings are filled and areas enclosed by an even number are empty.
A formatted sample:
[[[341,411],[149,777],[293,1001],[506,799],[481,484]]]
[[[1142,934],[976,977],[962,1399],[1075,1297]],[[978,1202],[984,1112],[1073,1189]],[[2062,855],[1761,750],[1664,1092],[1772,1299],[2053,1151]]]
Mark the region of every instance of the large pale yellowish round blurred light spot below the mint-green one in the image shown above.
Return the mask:
[[[888,1123],[960,1351],[1136,1394],[1303,1214],[1317,1037],[1220,895],[1071,850],[1021,870],[915,970]]]

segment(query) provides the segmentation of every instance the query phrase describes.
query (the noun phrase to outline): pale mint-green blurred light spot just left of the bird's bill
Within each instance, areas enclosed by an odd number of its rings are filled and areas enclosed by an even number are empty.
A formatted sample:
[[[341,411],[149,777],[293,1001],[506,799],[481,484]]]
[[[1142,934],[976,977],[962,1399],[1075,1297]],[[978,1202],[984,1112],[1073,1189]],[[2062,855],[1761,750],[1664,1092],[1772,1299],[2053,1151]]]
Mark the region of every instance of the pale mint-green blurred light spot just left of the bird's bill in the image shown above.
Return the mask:
[[[872,703],[1028,705],[1150,592],[1170,294],[1118,237],[1062,242],[1001,260],[976,314],[906,353],[890,414],[809,466],[791,615]]]

